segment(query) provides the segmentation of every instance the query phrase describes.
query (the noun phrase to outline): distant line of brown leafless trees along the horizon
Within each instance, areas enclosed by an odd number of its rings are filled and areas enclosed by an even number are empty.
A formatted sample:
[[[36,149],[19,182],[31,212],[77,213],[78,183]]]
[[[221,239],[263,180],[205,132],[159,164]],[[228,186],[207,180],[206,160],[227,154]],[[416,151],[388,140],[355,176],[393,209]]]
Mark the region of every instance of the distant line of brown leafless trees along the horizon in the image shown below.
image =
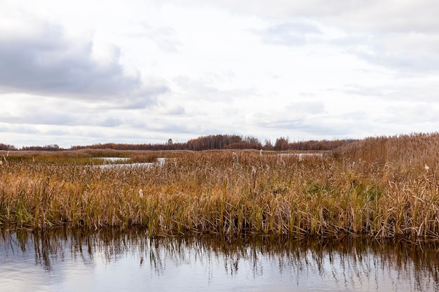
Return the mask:
[[[264,149],[275,151],[327,151],[338,148],[339,146],[358,141],[354,139],[344,140],[309,140],[309,141],[288,141],[288,138],[281,137],[276,139],[274,145],[270,140],[265,140],[264,144],[255,137],[243,137],[230,134],[217,134],[198,137],[184,143],[173,143],[169,139],[163,144],[121,144],[121,143],[105,143],[94,144],[90,146],[72,146],[69,149],[60,146],[24,146],[20,150],[26,151],[62,151],[62,150],[79,150],[79,149],[114,149],[114,150],[192,150],[203,151],[211,149]],[[19,150],[13,145],[0,144],[0,150]]]

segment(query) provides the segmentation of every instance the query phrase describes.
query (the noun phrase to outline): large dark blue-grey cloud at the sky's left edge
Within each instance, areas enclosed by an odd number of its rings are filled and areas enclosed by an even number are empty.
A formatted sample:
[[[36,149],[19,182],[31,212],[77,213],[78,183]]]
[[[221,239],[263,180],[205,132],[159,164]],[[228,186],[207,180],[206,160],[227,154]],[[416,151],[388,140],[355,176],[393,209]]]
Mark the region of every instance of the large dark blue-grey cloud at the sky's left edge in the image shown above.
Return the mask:
[[[32,39],[1,40],[2,91],[112,101],[126,108],[146,106],[168,91],[163,84],[145,86],[140,77],[125,76],[119,55],[97,64],[93,43],[69,43],[60,27],[45,25],[41,31]]]

